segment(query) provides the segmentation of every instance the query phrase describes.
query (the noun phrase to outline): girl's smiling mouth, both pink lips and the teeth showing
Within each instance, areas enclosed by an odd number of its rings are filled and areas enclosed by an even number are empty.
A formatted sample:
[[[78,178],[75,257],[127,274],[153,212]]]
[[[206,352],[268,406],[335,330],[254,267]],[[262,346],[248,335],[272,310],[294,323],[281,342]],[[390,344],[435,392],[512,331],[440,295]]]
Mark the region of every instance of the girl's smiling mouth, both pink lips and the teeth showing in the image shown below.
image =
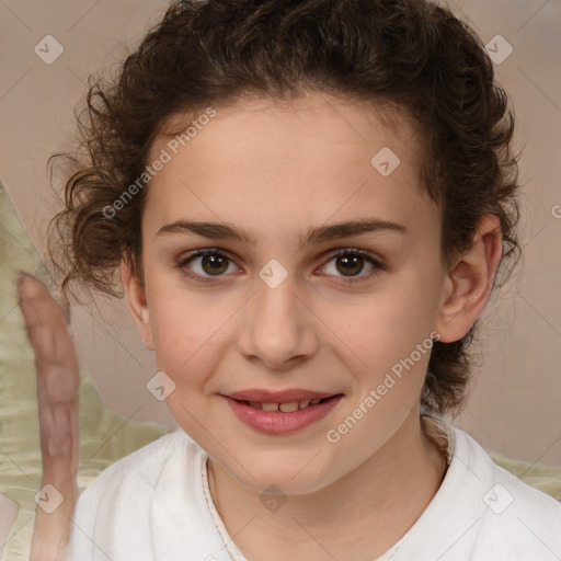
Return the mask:
[[[343,393],[252,390],[222,394],[222,398],[236,416],[251,428],[266,434],[287,434],[325,417]]]

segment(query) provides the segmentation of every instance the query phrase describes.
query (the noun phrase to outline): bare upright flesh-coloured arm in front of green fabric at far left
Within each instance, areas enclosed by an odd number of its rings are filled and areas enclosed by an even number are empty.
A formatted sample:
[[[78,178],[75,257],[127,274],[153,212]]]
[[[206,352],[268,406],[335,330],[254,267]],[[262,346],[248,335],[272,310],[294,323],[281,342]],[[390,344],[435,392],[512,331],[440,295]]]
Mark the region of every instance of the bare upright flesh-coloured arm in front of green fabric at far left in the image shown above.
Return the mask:
[[[65,314],[46,287],[31,275],[21,275],[19,290],[27,336],[35,353],[43,458],[41,489],[44,491],[37,502],[31,561],[64,561],[70,517],[78,499],[78,359]],[[53,510],[60,499],[57,493],[64,500]]]

